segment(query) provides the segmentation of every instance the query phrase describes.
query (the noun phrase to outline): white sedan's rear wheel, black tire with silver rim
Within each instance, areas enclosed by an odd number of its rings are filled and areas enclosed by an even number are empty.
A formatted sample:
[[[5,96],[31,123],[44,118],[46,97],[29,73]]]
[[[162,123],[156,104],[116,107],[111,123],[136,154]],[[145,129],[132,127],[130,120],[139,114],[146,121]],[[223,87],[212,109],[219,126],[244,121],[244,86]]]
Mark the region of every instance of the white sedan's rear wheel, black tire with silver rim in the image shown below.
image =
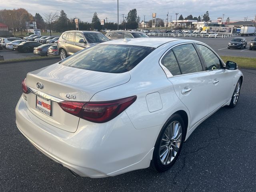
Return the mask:
[[[179,114],[173,114],[158,135],[150,168],[156,172],[169,170],[180,154],[184,136],[184,121]]]

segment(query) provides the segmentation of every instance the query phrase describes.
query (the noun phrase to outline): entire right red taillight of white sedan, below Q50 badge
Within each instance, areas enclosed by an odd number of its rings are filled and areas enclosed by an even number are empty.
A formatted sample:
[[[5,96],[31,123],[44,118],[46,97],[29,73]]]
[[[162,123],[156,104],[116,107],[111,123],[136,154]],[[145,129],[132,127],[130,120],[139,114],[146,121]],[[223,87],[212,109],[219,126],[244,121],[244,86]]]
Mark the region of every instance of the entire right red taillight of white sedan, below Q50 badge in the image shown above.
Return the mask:
[[[104,123],[114,119],[132,103],[135,102],[137,96],[131,96],[112,101],[104,102],[71,102],[64,101],[58,103],[60,107],[75,116],[90,122]]]

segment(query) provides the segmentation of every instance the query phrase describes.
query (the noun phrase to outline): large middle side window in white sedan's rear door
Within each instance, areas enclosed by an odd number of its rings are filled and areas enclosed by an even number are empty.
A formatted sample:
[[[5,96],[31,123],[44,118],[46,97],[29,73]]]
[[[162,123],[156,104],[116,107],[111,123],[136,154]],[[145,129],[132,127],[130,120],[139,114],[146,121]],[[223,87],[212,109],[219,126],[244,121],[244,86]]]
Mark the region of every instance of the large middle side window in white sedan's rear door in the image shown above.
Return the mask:
[[[192,44],[179,45],[172,48],[182,74],[203,71],[198,54]]]

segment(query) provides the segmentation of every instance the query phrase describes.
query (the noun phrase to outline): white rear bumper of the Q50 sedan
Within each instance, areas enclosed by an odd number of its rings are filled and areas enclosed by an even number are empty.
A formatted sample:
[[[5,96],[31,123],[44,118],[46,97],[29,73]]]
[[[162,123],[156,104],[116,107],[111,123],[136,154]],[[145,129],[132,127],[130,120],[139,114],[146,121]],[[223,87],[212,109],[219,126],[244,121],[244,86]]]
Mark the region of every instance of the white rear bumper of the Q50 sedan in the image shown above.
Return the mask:
[[[74,133],[67,132],[32,114],[23,96],[15,112],[18,129],[38,150],[78,175],[91,178],[147,168],[161,128],[136,130],[123,112],[108,123],[89,123],[78,126]]]

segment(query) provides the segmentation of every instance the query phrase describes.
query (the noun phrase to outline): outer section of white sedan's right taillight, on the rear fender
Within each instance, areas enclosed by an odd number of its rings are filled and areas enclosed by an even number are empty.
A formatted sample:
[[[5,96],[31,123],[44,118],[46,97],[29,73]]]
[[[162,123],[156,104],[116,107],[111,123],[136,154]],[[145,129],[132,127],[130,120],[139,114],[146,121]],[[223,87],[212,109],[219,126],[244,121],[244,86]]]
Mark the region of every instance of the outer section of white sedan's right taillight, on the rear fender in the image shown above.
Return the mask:
[[[136,98],[132,96],[106,102],[88,102],[82,108],[81,118],[96,123],[108,122],[126,110]]]

